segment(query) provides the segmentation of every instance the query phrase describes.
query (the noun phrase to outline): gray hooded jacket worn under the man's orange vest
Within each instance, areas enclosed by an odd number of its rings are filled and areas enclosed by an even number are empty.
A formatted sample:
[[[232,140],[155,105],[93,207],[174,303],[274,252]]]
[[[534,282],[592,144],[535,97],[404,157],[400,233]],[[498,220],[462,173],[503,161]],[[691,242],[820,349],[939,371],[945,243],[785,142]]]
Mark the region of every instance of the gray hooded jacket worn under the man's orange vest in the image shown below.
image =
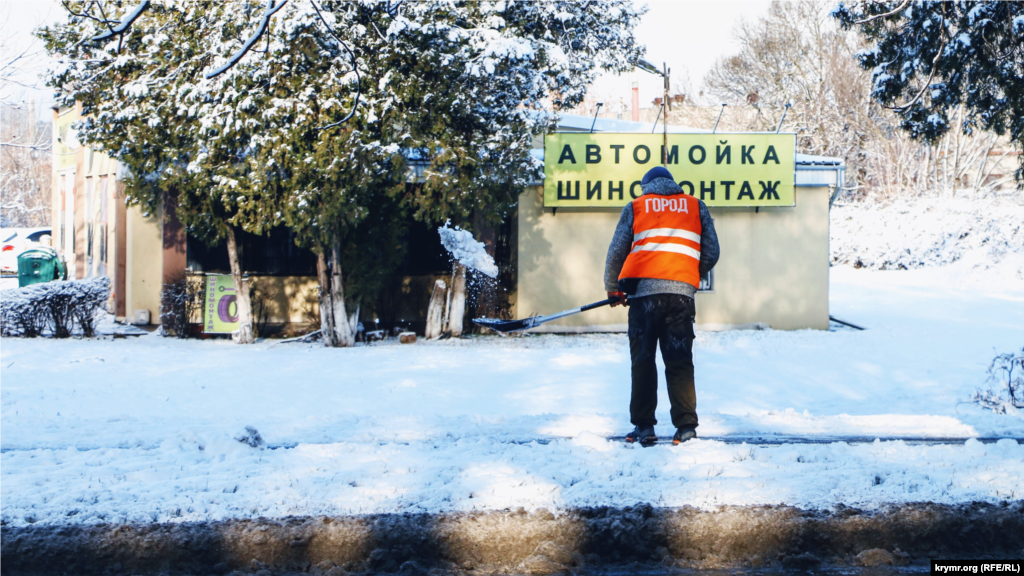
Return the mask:
[[[656,178],[643,187],[644,194],[659,194],[670,196],[682,194],[683,189],[669,178]],[[702,200],[700,203],[700,263],[698,270],[703,278],[711,269],[718,263],[719,246],[718,235],[715,233],[715,220],[708,211],[708,206]],[[626,257],[633,249],[633,204],[627,204],[623,208],[623,215],[618,218],[618,225],[615,227],[615,234],[611,237],[611,245],[608,246],[608,257],[604,262],[604,288],[608,292],[614,292],[618,287],[618,273],[623,270]],[[685,282],[675,280],[658,280],[653,278],[643,279],[637,284],[636,293],[633,297],[649,296],[651,294],[682,294],[690,298],[696,294],[696,288]]]

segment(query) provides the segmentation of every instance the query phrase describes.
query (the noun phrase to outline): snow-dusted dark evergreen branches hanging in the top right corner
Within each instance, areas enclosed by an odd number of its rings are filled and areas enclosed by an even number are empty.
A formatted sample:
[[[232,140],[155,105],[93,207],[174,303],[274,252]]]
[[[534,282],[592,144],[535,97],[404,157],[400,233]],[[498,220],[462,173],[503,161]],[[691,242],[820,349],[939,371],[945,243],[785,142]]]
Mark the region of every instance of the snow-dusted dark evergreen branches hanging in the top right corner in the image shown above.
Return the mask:
[[[833,14],[871,43],[858,54],[871,95],[911,136],[935,142],[950,129],[981,128],[1024,147],[1020,2],[846,0]]]

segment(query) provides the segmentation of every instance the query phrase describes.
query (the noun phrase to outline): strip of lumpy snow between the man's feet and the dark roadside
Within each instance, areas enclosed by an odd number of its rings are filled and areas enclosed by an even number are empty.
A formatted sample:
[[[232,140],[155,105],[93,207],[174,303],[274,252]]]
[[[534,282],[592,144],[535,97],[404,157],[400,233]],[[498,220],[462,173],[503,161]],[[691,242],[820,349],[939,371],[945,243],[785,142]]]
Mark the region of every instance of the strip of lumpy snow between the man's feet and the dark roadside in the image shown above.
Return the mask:
[[[261,450],[182,430],[159,446],[0,454],[0,522],[201,522],[232,518],[694,506],[1000,502],[1024,490],[1024,447],[876,442],[641,448],[587,437],[340,442]]]

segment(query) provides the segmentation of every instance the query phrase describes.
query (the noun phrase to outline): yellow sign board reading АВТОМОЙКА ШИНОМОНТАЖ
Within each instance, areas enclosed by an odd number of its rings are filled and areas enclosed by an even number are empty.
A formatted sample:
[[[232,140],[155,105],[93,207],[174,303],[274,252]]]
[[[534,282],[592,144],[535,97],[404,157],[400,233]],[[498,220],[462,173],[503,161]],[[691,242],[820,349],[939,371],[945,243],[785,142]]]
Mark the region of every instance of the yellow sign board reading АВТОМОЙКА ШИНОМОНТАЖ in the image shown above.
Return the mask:
[[[662,165],[662,134],[557,132],[544,143],[546,207],[621,207]],[[667,168],[709,206],[795,206],[794,134],[669,134]]]

